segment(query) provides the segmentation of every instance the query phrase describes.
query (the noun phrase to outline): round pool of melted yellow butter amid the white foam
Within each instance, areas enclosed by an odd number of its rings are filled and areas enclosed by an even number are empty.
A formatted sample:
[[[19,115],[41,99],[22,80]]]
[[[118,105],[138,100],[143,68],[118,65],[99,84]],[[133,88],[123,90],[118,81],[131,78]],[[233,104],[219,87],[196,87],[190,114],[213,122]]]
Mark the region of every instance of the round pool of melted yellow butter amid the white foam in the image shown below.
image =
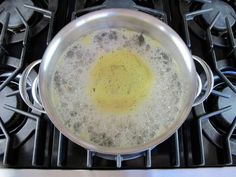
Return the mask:
[[[125,49],[104,53],[90,71],[89,93],[108,112],[134,110],[150,93],[154,74],[143,59]]]

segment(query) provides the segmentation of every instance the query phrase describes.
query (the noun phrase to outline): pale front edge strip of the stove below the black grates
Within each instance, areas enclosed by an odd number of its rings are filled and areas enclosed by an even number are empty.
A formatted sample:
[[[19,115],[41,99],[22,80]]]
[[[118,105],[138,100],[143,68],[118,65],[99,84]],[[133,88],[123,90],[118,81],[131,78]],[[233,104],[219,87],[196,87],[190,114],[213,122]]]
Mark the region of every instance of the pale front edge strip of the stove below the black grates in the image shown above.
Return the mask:
[[[0,177],[235,177],[236,167],[156,170],[0,169]]]

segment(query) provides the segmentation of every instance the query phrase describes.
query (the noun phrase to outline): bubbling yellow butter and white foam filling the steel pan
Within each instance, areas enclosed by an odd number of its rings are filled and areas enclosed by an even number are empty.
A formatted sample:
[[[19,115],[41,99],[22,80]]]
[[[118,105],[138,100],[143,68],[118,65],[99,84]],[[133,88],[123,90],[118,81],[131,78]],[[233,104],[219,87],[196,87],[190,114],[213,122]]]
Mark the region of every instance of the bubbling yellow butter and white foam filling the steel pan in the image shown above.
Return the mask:
[[[68,131],[94,146],[149,143],[174,126],[186,103],[180,64],[142,31],[104,28],[82,35],[54,68],[56,112]]]

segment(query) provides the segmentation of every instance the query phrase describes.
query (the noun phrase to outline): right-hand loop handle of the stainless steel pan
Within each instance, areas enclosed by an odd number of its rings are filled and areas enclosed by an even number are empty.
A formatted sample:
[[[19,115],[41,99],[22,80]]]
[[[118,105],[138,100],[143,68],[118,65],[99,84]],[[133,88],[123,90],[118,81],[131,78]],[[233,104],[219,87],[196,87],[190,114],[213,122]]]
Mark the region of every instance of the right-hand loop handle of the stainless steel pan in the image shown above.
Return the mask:
[[[201,66],[202,71],[200,71],[201,73],[197,73],[198,90],[193,103],[193,106],[196,106],[205,101],[212,92],[214,86],[214,77],[211,68],[203,59],[195,55],[192,57],[195,63],[198,63],[199,66]]]

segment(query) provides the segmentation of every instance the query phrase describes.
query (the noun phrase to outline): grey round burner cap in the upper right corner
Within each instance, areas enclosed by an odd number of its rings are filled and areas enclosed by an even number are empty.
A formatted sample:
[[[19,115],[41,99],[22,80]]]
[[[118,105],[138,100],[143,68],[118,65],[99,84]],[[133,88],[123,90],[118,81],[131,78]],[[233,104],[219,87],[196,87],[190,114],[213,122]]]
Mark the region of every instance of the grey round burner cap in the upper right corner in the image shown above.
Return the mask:
[[[227,4],[226,2],[215,0],[211,3],[205,3],[202,6],[202,10],[213,8],[212,11],[208,13],[204,13],[202,15],[203,19],[206,21],[208,25],[212,23],[218,12],[220,12],[220,16],[214,24],[214,28],[217,30],[225,30],[227,29],[225,18],[228,17],[230,26],[233,26],[235,23],[236,13],[234,9]]]

